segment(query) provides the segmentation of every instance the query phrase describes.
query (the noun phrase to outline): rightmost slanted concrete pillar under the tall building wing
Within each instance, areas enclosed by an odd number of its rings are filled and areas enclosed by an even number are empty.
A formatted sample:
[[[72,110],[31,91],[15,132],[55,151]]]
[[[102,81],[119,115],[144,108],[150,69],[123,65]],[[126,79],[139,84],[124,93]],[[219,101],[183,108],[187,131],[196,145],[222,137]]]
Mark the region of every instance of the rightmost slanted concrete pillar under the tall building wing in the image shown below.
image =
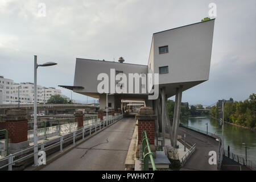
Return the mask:
[[[180,122],[182,88],[183,86],[179,86],[179,88],[176,89],[176,96],[175,96],[174,122],[172,123],[172,147],[175,147],[175,148],[177,147],[177,129],[179,127],[179,122]]]

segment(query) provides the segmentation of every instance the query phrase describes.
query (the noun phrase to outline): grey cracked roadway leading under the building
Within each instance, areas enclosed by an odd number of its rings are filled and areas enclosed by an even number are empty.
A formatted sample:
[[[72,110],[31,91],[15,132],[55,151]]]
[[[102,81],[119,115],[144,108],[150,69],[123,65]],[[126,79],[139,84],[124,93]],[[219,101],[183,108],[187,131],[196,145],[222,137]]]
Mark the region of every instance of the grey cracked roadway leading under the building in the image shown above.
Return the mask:
[[[135,118],[123,118],[42,170],[124,170]]]

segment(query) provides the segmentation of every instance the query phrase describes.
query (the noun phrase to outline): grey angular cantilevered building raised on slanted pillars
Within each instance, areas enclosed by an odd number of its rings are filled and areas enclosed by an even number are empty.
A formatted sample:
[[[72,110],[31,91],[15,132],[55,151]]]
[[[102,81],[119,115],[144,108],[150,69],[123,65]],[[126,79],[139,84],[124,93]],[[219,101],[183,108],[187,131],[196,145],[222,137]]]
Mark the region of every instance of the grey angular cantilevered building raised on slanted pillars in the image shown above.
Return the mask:
[[[142,90],[146,85],[140,82],[139,93],[127,91],[127,93],[109,94],[108,108],[122,109],[121,100],[143,100],[147,106],[154,107],[155,113],[159,115],[159,131],[167,131],[165,125],[162,125],[168,119],[167,98],[176,95],[174,115],[179,115],[182,92],[209,79],[213,29],[214,19],[205,19],[199,23],[154,33],[147,65],[123,63],[122,57],[119,62],[77,58],[73,86],[62,86],[72,89],[73,92],[99,98],[100,109],[105,109],[106,93],[99,93],[97,90],[101,82],[97,79],[100,73],[106,73],[109,78],[124,73],[127,75],[127,83],[130,81],[129,73],[159,73],[159,84],[153,87],[155,92],[156,89],[159,91],[156,100],[148,99],[148,89],[143,93]],[[110,69],[115,69],[115,72],[110,73]],[[154,77],[152,79],[154,81]],[[118,81],[115,81],[115,84],[117,83]],[[111,84],[113,82],[109,81],[109,88]],[[118,86],[131,89],[129,84]],[[109,89],[109,93],[113,92]],[[169,131],[176,130],[178,119],[179,117],[174,119],[172,129],[169,127]]]

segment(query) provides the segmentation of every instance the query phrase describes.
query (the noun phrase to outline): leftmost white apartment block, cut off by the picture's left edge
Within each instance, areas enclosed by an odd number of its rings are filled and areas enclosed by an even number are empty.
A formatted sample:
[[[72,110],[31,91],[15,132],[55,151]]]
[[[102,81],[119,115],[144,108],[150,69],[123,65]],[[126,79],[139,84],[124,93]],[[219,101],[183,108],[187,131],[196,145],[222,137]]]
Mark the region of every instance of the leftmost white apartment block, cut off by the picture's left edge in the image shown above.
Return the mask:
[[[13,84],[13,80],[0,76],[0,104],[13,100]]]

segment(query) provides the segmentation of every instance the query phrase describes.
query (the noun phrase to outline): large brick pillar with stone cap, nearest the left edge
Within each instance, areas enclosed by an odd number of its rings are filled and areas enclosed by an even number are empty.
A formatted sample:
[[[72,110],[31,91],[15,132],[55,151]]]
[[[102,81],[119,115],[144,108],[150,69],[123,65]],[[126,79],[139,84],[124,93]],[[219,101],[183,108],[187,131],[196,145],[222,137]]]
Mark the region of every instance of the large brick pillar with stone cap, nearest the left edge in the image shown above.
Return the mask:
[[[27,123],[26,110],[13,109],[6,111],[3,122],[0,122],[0,128],[8,130],[10,154],[29,146]]]

